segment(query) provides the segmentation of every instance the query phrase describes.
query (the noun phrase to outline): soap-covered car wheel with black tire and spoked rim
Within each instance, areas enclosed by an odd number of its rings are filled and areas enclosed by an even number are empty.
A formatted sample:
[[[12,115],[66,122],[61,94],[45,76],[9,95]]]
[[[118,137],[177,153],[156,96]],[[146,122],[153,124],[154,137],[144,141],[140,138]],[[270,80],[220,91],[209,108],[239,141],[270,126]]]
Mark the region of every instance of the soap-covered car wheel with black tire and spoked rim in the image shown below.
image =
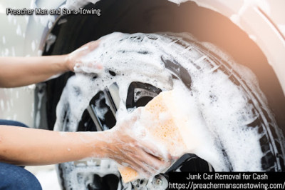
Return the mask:
[[[242,161],[247,162],[241,165],[233,156],[233,149],[237,146],[227,143],[227,139],[234,141],[237,137],[231,136],[232,133],[226,136],[217,130],[214,146],[222,155],[220,163],[209,164],[207,161],[211,159],[207,160],[207,157],[203,158],[205,161],[199,155],[185,154],[154,180],[139,179],[128,184],[123,183],[116,164],[110,160],[90,159],[58,164],[63,189],[152,189],[157,186],[166,189],[169,171],[251,171],[256,169],[251,166],[256,165],[261,171],[284,171],[283,126],[277,125],[257,79],[249,69],[231,61],[216,47],[199,42],[188,34],[117,33],[104,37],[102,41],[102,49],[96,56],[105,66],[103,74],[76,74],[68,79],[58,102],[56,130],[111,129],[118,120],[116,112],[119,109],[133,111],[138,106],[145,106],[161,91],[175,89],[179,84],[187,89],[189,96],[197,97],[200,107],[212,105],[211,113],[202,111],[205,120],[209,114],[215,119],[223,119],[221,116],[224,115],[217,111],[232,113],[229,108],[239,107],[236,118],[242,122],[237,126],[245,131],[244,134],[254,131],[257,144],[254,145],[247,136],[239,141],[236,152],[243,154]],[[152,60],[160,64],[152,64]],[[124,66],[126,64],[129,66]],[[83,88],[82,84],[89,86]],[[224,84],[232,88],[222,87]],[[239,105],[233,105],[237,99]],[[214,123],[211,119],[208,121]],[[257,159],[249,157],[254,152],[261,156]]]

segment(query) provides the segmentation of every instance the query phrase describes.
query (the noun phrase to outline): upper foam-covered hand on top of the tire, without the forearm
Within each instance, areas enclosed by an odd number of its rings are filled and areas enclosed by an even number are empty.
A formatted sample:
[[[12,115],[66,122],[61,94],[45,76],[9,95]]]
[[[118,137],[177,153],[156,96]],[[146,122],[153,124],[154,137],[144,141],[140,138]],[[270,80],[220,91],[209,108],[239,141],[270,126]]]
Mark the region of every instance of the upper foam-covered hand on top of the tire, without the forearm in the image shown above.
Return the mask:
[[[89,43],[81,46],[75,51],[68,54],[67,57],[67,66],[70,71],[75,72],[94,72],[103,69],[102,64],[97,63],[95,60],[83,60],[83,57],[95,50],[100,44],[100,41],[90,41]]]

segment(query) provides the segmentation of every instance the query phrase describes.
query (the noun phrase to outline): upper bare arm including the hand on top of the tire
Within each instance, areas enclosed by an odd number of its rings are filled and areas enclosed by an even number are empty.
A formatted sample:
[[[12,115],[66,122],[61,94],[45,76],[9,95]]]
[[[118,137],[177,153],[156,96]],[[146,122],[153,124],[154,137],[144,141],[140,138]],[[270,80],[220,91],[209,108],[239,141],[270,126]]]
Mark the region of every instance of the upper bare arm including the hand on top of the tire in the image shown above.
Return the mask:
[[[98,44],[99,41],[90,41],[76,51],[61,56],[0,57],[0,87],[35,84],[53,75],[73,71],[75,66],[81,68],[84,65],[81,58],[96,49]],[[93,67],[92,64],[90,66]]]

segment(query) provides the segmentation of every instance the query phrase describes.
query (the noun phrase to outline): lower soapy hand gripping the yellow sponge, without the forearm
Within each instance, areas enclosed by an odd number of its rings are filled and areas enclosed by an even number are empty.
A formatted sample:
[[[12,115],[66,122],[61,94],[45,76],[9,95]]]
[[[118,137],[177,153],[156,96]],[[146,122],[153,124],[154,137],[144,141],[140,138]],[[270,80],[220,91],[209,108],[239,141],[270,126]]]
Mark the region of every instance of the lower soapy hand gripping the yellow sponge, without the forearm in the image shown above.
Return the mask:
[[[123,166],[130,166],[149,178],[170,166],[171,156],[164,147],[158,147],[145,138],[145,131],[135,131],[135,122],[140,117],[136,109],[128,119],[110,130],[112,137],[108,143],[108,157]]]

